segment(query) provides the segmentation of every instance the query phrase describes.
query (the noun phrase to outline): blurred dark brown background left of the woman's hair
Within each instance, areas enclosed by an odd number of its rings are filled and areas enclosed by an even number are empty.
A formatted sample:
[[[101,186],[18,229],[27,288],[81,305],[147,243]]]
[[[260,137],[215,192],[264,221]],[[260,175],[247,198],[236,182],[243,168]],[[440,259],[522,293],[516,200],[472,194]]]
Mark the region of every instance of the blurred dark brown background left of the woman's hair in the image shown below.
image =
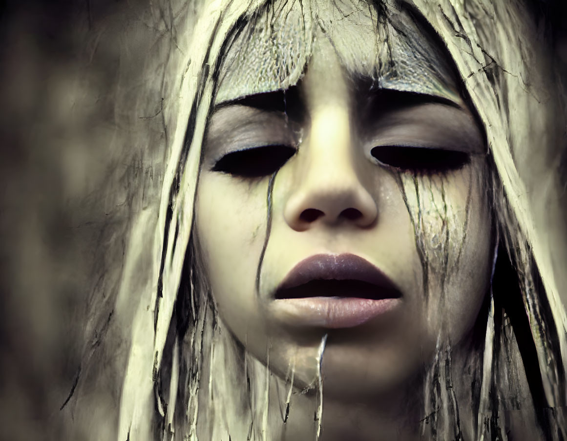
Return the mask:
[[[156,54],[174,13],[159,1],[0,3],[0,439],[114,436],[125,350],[100,343],[130,219],[159,200]]]

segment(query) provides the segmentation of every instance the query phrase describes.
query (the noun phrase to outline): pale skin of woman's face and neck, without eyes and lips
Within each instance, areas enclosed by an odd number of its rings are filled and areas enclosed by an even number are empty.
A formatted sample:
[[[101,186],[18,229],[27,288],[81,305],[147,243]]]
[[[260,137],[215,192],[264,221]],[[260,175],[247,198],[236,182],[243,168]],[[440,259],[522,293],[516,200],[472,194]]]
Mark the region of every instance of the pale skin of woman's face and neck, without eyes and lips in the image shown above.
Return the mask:
[[[327,334],[321,439],[417,439],[424,415],[416,409],[414,381],[433,357],[440,333],[454,346],[453,370],[462,378],[489,283],[494,244],[477,178],[484,142],[462,100],[424,100],[361,122],[354,86],[323,37],[299,84],[302,121],[238,102],[219,108],[205,143],[196,228],[222,323],[260,362],[266,363],[269,352],[270,368],[282,377],[293,365],[301,389],[316,378],[317,350]],[[237,176],[214,166],[230,152],[274,144],[297,152],[273,181],[272,224],[257,292],[272,173]],[[468,161],[416,177],[371,154],[389,145],[455,149],[466,152]],[[427,286],[416,228],[428,256]],[[290,325],[270,295],[295,264],[320,253],[353,253],[370,261],[399,287],[400,306],[351,329]],[[456,393],[466,396],[467,390]],[[304,419],[307,429],[303,433],[296,425],[289,439],[312,430],[311,410],[302,409],[311,409],[313,399],[297,399],[290,418]]]

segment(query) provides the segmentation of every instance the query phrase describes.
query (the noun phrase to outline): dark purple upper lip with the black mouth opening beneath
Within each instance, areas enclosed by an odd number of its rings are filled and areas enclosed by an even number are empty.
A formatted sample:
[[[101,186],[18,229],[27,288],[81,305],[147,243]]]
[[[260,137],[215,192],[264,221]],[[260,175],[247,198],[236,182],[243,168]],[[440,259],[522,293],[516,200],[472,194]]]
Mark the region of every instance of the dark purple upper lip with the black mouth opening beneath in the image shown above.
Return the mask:
[[[318,295],[386,299],[399,298],[401,292],[376,266],[353,254],[307,257],[287,273],[275,292],[276,299]]]

